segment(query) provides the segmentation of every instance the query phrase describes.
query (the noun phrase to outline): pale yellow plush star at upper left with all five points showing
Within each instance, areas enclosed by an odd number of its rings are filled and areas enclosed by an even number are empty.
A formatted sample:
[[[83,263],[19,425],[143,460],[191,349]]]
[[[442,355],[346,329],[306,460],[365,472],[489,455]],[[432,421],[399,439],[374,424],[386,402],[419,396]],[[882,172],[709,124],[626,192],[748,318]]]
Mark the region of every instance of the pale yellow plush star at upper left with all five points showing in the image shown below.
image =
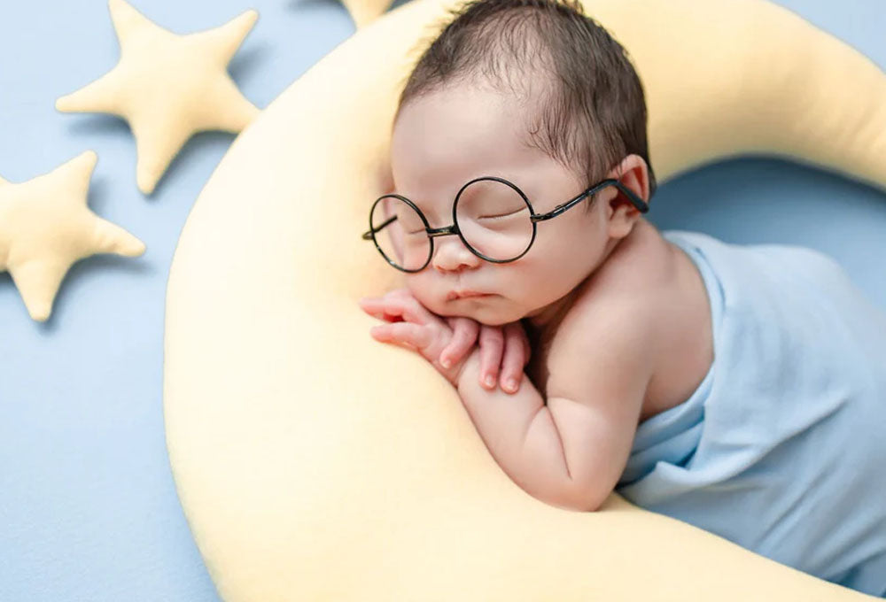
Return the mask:
[[[110,0],[120,61],[73,94],[62,112],[106,112],[128,121],[136,136],[136,182],[151,194],[191,135],[239,132],[259,113],[228,74],[228,62],[253,28],[258,12],[190,35],[157,26],[123,0]]]

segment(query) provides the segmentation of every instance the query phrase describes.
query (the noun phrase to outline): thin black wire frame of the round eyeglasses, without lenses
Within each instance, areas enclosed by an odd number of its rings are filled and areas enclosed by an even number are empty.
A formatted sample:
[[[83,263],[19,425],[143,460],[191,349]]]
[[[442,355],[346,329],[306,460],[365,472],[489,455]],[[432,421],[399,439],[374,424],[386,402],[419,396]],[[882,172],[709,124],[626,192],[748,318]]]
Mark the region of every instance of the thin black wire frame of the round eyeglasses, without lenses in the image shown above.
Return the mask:
[[[465,240],[464,235],[462,235],[462,231],[458,228],[458,219],[455,217],[456,210],[458,208],[458,199],[462,197],[462,191],[464,189],[468,188],[475,181],[482,181],[482,180],[494,180],[494,181],[500,181],[503,184],[507,184],[510,188],[517,191],[517,194],[520,195],[521,198],[523,198],[524,203],[526,204],[527,207],[529,207],[529,219],[532,221],[532,238],[530,239],[529,244],[526,245],[525,250],[522,253],[520,253],[519,255],[517,255],[517,257],[514,257],[512,259],[492,259],[490,257],[486,257],[486,255],[484,255],[480,251],[477,251],[472,246],[470,246],[470,243],[468,243],[468,241]],[[538,223],[540,221],[547,221],[547,220],[552,220],[553,218],[556,218],[556,216],[562,214],[563,212],[567,211],[568,209],[571,209],[575,205],[578,205],[579,202],[582,201],[583,199],[585,199],[586,197],[590,197],[590,196],[594,195],[595,192],[598,192],[598,191],[606,188],[607,186],[615,186],[617,189],[621,190],[622,193],[624,193],[624,195],[628,198],[628,200],[631,201],[633,206],[635,206],[639,212],[641,212],[641,213],[649,212],[649,204],[647,204],[646,201],[644,201],[640,197],[637,197],[637,195],[635,195],[633,193],[633,190],[628,189],[624,184],[622,184],[620,181],[618,181],[614,178],[608,178],[606,180],[598,182],[597,184],[595,184],[591,188],[585,190],[584,192],[579,194],[578,197],[571,198],[569,201],[563,203],[562,205],[556,205],[556,207],[554,207],[554,209],[552,209],[551,211],[549,211],[547,213],[536,213],[535,210],[532,209],[532,203],[530,203],[529,199],[526,197],[526,195],[523,194],[523,190],[517,188],[516,184],[511,183],[511,182],[505,180],[504,178],[499,178],[494,175],[485,175],[485,176],[481,176],[479,178],[474,178],[473,180],[464,184],[462,186],[462,188],[458,190],[458,193],[455,195],[455,201],[453,201],[453,204],[452,204],[452,222],[453,223],[450,226],[445,226],[443,228],[431,228],[431,224],[429,224],[428,220],[425,219],[424,213],[422,212],[421,209],[419,209],[416,206],[415,203],[410,201],[407,197],[403,197],[398,194],[390,194],[390,195],[383,195],[381,197],[378,197],[376,199],[376,202],[373,203],[372,206],[369,208],[369,230],[364,232],[361,235],[361,238],[364,241],[371,240],[372,243],[374,243],[376,245],[376,249],[378,250],[378,252],[381,253],[382,257],[385,258],[385,261],[387,261],[388,264],[397,268],[398,270],[400,270],[400,272],[407,272],[409,274],[415,274],[416,272],[421,272],[422,270],[424,270],[425,267],[428,266],[429,263],[431,263],[431,258],[434,256],[434,238],[436,238],[437,236],[446,236],[446,235],[458,235],[458,237],[462,239],[462,243],[464,243],[464,246],[466,246],[470,252],[472,252],[474,255],[476,255],[480,259],[484,259],[484,260],[490,261],[492,263],[510,263],[511,261],[517,261],[517,259],[520,259],[521,257],[523,257],[527,252],[529,252],[530,249],[532,249],[532,243],[535,242],[535,234],[537,231],[537,228],[535,226],[536,223]],[[418,217],[420,217],[422,219],[422,222],[424,223],[424,231],[427,233],[428,238],[430,239],[431,249],[428,252],[428,259],[426,259],[424,261],[424,265],[419,268],[416,268],[414,270],[408,270],[405,267],[398,266],[394,261],[392,261],[391,258],[389,258],[387,255],[385,255],[385,251],[382,251],[382,248],[378,245],[378,242],[376,240],[376,232],[379,232],[382,228],[385,228],[385,226],[390,224],[393,220],[397,219],[397,216],[393,216],[392,218],[385,220],[385,222],[382,223],[381,225],[379,225],[378,228],[372,228],[372,212],[375,211],[376,205],[378,205],[378,203],[381,200],[383,200],[387,197],[399,198],[401,201],[404,201],[405,203],[407,203],[410,207],[412,207],[413,209],[416,210],[416,213],[418,213]]]

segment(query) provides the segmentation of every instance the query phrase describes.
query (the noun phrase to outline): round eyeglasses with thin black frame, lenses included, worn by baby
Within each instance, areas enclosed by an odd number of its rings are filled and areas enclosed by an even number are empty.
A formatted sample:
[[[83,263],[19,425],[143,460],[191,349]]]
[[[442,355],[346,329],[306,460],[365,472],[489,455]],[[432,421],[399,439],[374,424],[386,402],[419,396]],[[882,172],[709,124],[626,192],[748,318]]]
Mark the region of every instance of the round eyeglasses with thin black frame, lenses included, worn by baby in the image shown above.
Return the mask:
[[[556,218],[607,186],[621,190],[641,213],[649,212],[649,205],[631,189],[618,180],[607,179],[550,212],[539,214],[515,184],[488,175],[469,181],[455,195],[451,226],[431,228],[412,201],[390,194],[378,197],[372,204],[369,230],[361,237],[375,243],[388,264],[402,272],[422,271],[431,262],[434,238],[446,235],[458,235],[480,259],[509,263],[523,257],[532,247],[536,223]]]

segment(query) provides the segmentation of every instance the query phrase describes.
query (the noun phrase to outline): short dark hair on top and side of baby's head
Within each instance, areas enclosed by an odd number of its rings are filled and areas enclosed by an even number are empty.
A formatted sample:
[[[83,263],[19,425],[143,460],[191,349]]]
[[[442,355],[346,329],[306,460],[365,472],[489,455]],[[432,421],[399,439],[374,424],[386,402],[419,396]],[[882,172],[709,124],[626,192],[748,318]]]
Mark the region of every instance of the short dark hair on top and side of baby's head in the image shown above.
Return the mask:
[[[648,166],[652,197],[656,177],[640,78],[626,50],[584,15],[579,0],[470,0],[442,23],[408,75],[395,121],[413,98],[450,85],[486,85],[528,109],[527,147],[586,186],[637,154]],[[534,74],[541,77],[533,81]],[[583,205],[589,211],[593,200]]]

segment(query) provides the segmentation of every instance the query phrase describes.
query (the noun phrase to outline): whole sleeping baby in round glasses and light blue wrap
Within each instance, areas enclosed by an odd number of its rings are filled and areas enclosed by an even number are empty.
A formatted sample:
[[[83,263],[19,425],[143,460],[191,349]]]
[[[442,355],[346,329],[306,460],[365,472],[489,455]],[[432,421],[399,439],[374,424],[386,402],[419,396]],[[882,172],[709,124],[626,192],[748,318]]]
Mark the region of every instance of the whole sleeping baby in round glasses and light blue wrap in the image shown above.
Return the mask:
[[[617,491],[886,594],[886,314],[818,251],[645,220],[641,81],[582,13],[470,2],[419,59],[363,235],[406,284],[361,299],[372,336],[533,497]]]

